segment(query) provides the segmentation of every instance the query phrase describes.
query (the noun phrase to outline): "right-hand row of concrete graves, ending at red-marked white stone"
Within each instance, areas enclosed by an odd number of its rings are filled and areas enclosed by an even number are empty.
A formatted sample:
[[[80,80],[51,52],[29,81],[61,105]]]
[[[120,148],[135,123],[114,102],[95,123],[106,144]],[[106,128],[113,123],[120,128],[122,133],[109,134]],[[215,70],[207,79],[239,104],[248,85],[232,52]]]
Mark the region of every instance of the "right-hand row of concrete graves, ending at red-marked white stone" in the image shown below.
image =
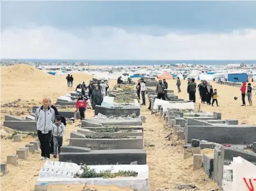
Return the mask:
[[[184,140],[183,159],[193,157],[193,170],[203,168],[219,190],[256,189],[255,125],[222,119],[218,112],[195,112],[191,101],[149,100],[152,113],[163,117],[171,136]],[[202,154],[202,149],[212,152]]]

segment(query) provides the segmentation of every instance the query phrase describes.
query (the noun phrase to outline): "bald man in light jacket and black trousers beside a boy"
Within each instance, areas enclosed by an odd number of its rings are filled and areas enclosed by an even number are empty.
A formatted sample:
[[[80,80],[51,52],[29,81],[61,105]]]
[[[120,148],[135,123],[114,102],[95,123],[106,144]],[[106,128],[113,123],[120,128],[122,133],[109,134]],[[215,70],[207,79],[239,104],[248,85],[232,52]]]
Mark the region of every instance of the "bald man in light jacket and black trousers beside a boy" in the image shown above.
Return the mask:
[[[40,141],[41,160],[49,160],[52,123],[55,121],[54,109],[49,107],[49,98],[44,98],[42,106],[36,109],[35,120],[37,124],[37,136]]]

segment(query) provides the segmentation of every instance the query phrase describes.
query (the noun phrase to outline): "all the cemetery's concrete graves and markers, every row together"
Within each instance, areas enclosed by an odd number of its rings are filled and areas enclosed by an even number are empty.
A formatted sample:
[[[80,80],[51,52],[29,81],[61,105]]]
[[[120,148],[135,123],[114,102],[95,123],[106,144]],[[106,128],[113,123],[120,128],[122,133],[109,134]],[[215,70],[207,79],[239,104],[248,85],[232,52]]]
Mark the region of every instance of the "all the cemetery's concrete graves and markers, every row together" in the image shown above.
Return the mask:
[[[93,79],[93,82],[98,82]],[[246,190],[242,177],[255,177],[256,126],[239,124],[237,119],[222,119],[219,112],[196,111],[191,101],[179,99],[168,91],[170,101],[159,100],[156,80],[146,78],[152,118],[163,121],[174,140],[182,140],[183,159],[193,158],[192,170],[202,169],[220,190]],[[152,90],[152,91],[151,91]],[[57,106],[73,106],[78,91],[60,96]],[[35,112],[26,118],[7,115],[4,126],[17,131],[36,131]],[[74,111],[59,111],[68,120],[77,119]],[[69,136],[69,143],[60,148],[59,161],[45,161],[35,184],[36,191],[57,190],[61,185],[116,185],[134,190],[149,190],[149,168],[143,141],[141,108],[135,86],[116,85],[108,91],[102,105],[95,106],[94,116],[83,119]],[[14,142],[21,142],[16,134]],[[7,164],[19,165],[19,160],[40,149],[33,139],[17,149],[16,154],[1,162],[1,174],[7,174]],[[204,149],[211,152],[204,154]],[[249,171],[250,173],[248,173]]]

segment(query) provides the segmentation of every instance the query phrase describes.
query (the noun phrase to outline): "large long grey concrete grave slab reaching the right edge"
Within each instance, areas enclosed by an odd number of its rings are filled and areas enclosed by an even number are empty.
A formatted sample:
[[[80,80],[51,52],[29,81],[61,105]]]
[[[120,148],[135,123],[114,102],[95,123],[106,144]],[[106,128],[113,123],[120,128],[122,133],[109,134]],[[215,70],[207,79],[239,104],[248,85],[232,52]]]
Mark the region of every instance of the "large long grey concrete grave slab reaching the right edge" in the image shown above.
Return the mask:
[[[251,144],[256,141],[256,126],[228,125],[228,126],[187,126],[185,139],[200,139],[219,144]]]

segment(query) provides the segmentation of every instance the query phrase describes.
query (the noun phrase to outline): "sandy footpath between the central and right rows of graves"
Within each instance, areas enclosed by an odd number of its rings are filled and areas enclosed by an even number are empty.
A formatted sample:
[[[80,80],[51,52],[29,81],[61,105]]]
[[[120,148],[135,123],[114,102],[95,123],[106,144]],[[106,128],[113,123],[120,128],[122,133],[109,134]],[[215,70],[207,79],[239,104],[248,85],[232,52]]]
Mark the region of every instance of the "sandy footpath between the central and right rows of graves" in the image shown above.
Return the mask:
[[[141,115],[145,115],[144,144],[149,165],[150,190],[174,190],[176,185],[194,184],[200,190],[217,189],[217,185],[207,179],[202,169],[192,171],[192,157],[183,159],[184,141],[176,141],[174,136],[168,140],[166,136],[173,129],[164,127],[163,118],[151,115],[148,106],[141,107]],[[183,189],[184,190],[184,189]]]

